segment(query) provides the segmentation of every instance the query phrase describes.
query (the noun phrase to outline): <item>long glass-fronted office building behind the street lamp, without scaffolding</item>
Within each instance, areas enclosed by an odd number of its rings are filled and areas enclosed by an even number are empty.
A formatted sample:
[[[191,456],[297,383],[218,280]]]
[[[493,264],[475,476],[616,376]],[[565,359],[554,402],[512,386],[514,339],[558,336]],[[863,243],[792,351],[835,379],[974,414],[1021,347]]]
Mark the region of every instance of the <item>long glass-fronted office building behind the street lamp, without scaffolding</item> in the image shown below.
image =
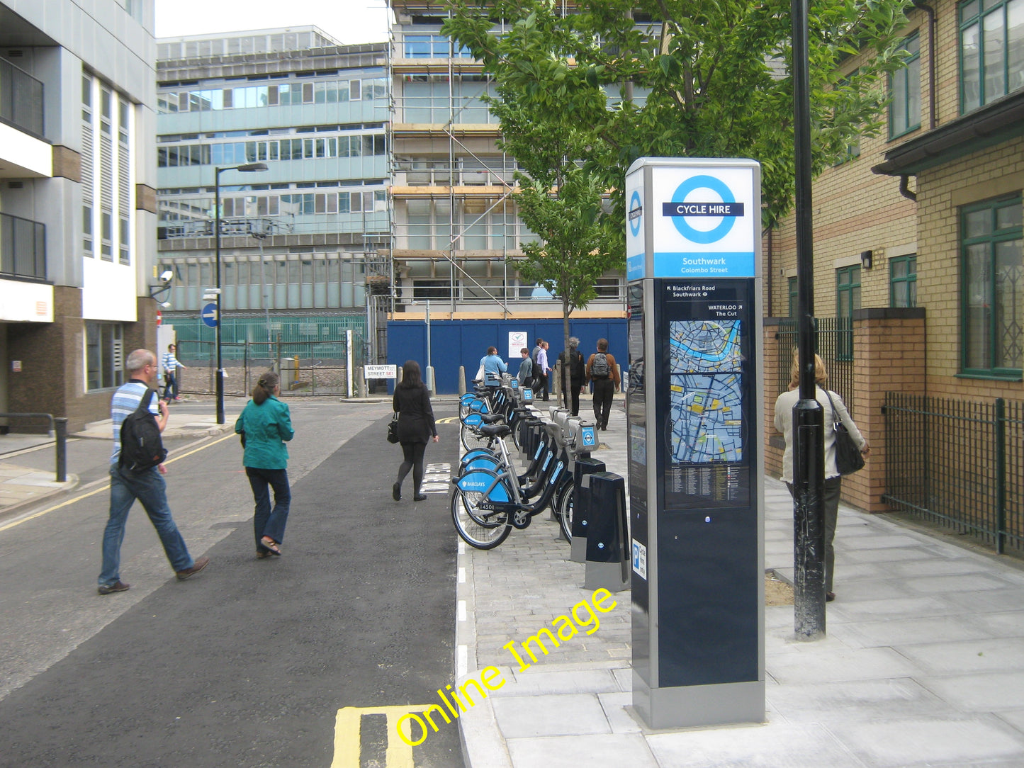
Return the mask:
[[[242,334],[230,340],[265,341],[283,318],[317,329],[308,341],[342,327],[372,337],[367,275],[390,283],[386,44],[343,46],[300,27],[157,48],[158,250],[174,274],[165,321],[197,337],[216,285],[219,185],[222,308]],[[238,170],[250,164],[266,170]]]

